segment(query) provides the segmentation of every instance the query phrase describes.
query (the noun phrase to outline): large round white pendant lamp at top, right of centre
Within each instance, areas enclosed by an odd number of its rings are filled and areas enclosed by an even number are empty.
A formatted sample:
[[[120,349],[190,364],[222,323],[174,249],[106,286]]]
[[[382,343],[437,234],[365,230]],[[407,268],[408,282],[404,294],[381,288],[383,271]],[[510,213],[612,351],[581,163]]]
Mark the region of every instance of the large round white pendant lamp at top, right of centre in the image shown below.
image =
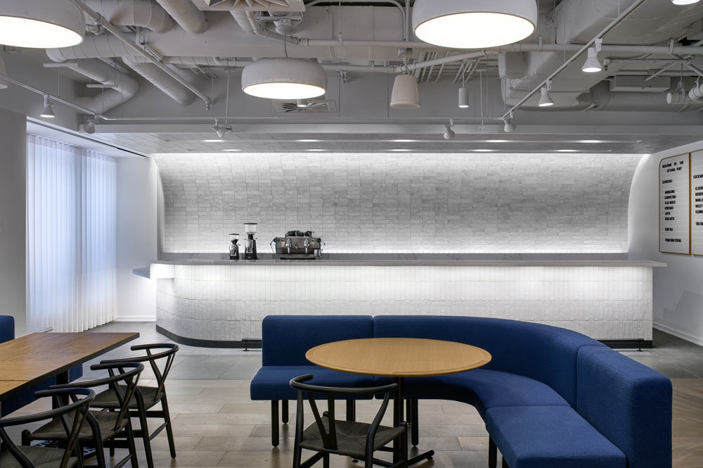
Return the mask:
[[[415,36],[452,49],[512,44],[536,25],[535,0],[415,0],[413,6]]]

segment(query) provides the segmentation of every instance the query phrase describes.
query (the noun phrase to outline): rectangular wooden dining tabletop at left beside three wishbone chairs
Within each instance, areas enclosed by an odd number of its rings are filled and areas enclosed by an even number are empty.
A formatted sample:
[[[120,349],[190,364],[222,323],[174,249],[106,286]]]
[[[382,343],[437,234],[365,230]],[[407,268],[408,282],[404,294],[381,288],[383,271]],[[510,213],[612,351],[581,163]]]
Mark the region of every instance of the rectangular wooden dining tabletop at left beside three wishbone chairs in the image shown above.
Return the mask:
[[[51,377],[57,384],[67,384],[73,367],[138,337],[138,333],[33,333],[0,343],[0,405]]]

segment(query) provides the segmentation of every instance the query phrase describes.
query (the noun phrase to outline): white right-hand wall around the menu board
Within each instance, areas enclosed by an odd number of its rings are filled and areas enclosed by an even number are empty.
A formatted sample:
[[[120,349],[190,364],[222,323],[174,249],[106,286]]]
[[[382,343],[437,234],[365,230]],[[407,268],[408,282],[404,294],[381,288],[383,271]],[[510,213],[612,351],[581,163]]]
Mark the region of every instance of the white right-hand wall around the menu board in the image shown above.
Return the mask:
[[[703,258],[659,253],[659,161],[703,149],[703,141],[645,156],[633,178],[629,204],[629,258],[657,260],[652,312],[654,328],[703,345]]]

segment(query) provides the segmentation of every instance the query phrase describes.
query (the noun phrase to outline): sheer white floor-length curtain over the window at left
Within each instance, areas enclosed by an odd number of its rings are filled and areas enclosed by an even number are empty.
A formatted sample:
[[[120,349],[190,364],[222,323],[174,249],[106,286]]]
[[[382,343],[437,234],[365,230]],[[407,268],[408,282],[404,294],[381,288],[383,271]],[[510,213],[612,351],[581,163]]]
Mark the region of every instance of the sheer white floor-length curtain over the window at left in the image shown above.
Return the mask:
[[[27,323],[84,331],[115,314],[115,160],[27,135]]]

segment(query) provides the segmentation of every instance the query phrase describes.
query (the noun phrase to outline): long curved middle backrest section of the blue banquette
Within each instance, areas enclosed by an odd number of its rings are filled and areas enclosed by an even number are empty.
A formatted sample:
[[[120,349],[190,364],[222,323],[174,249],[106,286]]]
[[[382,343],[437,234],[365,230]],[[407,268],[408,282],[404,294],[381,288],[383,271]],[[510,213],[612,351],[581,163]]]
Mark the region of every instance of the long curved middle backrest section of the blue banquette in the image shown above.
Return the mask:
[[[576,407],[576,355],[581,346],[604,345],[576,331],[483,317],[380,315],[375,337],[427,338],[479,346],[493,359],[486,369],[541,381]]]

